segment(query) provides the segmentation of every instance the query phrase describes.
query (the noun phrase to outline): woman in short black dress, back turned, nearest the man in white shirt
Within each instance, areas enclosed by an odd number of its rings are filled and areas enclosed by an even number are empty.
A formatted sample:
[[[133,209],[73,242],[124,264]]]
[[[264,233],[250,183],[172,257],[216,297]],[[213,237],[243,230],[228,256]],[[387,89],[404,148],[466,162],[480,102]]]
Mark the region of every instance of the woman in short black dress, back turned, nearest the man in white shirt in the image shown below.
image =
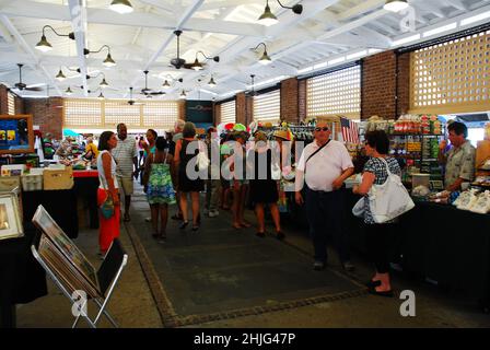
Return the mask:
[[[255,203],[255,214],[257,215],[257,236],[265,237],[265,214],[264,207],[269,205],[276,236],[282,240],[280,214],[278,208],[278,182],[272,178],[271,163],[272,151],[267,145],[267,136],[258,131],[255,135],[255,148],[248,153],[248,165],[254,170],[254,179],[250,179],[250,199]]]

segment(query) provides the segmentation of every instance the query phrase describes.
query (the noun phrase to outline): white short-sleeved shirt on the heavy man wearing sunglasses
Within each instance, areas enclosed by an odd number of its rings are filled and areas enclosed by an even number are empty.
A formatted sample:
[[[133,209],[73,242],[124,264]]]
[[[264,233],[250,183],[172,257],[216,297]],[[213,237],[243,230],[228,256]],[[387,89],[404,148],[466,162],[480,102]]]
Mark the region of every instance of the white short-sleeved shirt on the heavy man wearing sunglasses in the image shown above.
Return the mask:
[[[305,162],[319,145],[316,141],[307,144],[301,154],[298,170],[306,174],[306,185],[313,190],[331,191],[331,184],[346,170],[353,167],[349,152],[342,142],[330,140],[326,147]]]

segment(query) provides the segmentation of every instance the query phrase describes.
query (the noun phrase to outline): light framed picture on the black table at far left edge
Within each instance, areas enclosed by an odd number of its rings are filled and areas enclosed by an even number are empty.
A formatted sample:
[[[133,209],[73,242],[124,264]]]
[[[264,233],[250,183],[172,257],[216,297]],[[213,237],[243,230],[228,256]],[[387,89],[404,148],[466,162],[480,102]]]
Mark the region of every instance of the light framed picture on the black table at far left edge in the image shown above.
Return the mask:
[[[15,194],[0,195],[0,240],[24,236],[19,200]]]

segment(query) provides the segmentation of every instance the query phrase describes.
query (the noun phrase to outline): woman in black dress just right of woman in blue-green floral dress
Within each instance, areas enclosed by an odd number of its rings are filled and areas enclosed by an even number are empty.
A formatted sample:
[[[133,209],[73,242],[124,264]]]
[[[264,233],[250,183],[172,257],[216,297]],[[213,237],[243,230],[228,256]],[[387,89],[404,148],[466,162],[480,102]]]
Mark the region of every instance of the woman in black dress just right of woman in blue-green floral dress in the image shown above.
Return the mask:
[[[192,231],[199,229],[199,192],[205,189],[205,182],[202,178],[190,179],[186,172],[187,163],[194,159],[200,150],[206,151],[205,147],[196,148],[194,154],[187,154],[188,147],[195,147],[192,142],[199,142],[196,140],[196,127],[192,122],[187,121],[184,125],[183,139],[178,140],[175,145],[175,165],[178,168],[178,190],[180,191],[180,208],[184,217],[184,222],[180,224],[180,229],[185,229],[189,221],[187,219],[187,194],[190,192],[192,202]],[[196,162],[196,160],[194,161]],[[197,168],[196,168],[197,171]]]

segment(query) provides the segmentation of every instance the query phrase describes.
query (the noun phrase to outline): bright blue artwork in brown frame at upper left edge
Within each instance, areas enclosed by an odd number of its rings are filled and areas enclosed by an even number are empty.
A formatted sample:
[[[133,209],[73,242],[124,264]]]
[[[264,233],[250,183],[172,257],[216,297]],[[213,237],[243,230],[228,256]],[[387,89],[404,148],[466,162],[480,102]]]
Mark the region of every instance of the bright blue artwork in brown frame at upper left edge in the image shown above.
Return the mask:
[[[34,152],[32,115],[0,115],[0,154]]]

